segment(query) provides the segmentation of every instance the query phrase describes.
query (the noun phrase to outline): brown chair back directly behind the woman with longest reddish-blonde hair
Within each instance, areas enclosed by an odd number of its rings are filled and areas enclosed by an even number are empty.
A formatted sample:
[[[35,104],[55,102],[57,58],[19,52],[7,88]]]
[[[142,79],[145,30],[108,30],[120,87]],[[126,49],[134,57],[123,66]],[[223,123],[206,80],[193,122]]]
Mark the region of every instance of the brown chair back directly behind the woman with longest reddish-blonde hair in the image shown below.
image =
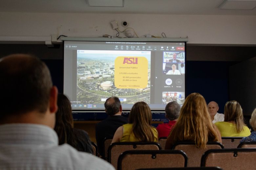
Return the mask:
[[[208,149],[224,148],[220,142],[208,142],[206,148],[197,148],[195,142],[177,142],[172,149],[182,150],[187,154],[187,167],[198,167],[203,153]]]

